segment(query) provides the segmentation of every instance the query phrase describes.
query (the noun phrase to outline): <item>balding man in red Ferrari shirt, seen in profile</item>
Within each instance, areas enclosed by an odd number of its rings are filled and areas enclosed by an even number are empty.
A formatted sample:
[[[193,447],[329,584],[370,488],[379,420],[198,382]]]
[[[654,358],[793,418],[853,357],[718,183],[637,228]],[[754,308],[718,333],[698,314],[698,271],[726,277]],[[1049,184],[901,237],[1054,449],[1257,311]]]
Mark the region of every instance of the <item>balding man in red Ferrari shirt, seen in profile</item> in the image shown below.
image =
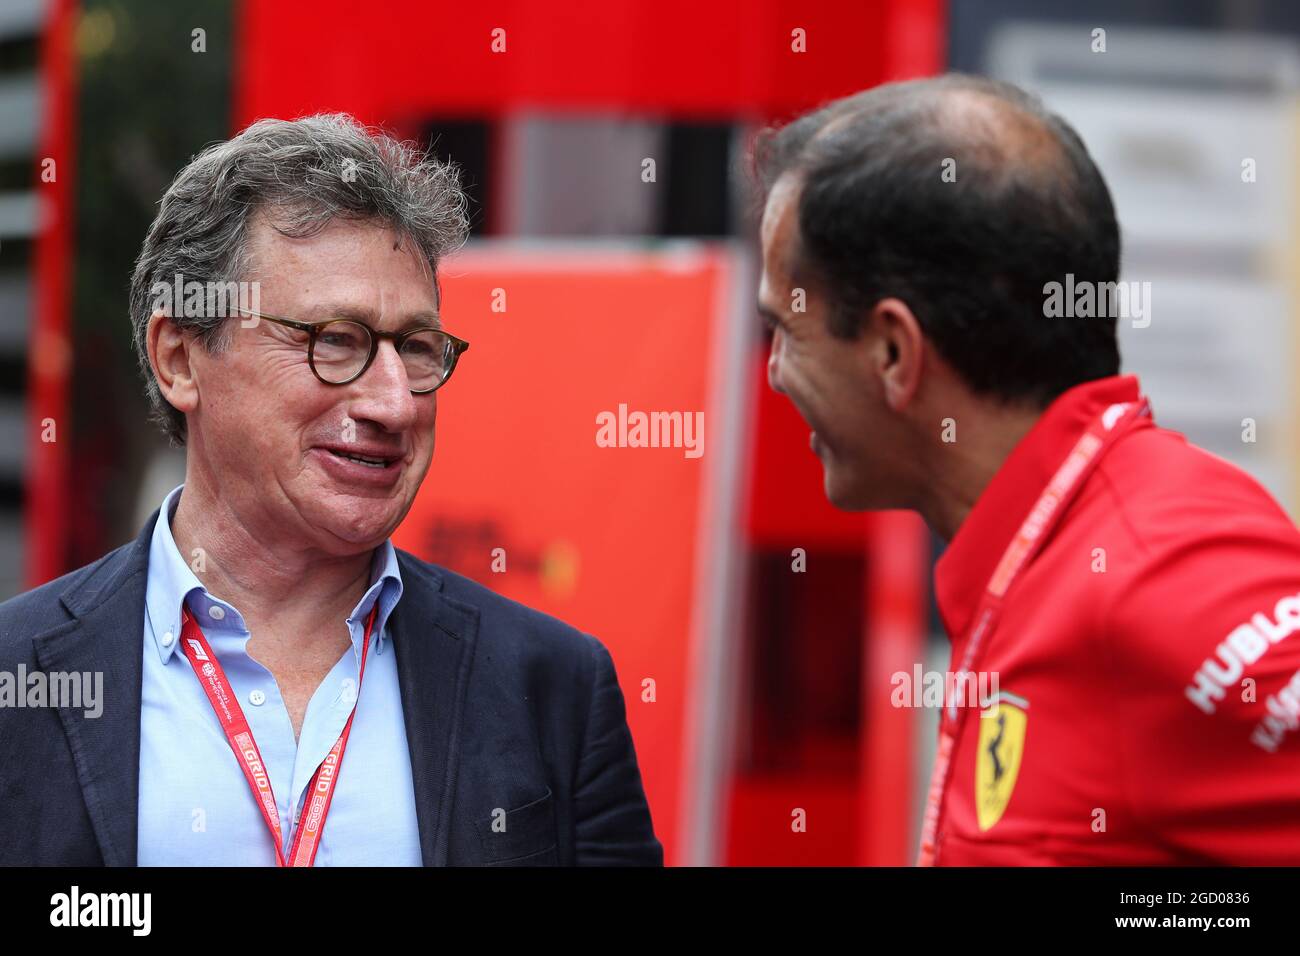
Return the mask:
[[[945,704],[919,861],[1300,864],[1300,533],[1119,375],[1119,234],[1078,135],[950,75],[757,160],[770,382],[832,503],[950,542],[950,670],[997,678]],[[1112,308],[1063,317],[1067,284]]]

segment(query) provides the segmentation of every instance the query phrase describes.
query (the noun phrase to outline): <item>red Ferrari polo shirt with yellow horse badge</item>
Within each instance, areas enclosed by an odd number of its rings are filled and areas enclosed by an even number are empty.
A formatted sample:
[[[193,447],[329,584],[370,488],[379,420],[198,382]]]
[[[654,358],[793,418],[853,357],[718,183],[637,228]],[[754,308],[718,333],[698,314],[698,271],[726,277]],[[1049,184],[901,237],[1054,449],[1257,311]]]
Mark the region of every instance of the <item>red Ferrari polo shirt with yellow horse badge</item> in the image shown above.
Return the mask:
[[[953,670],[1040,493],[1138,401],[1066,392],[980,496],[936,567]],[[936,864],[1300,864],[1300,532],[1249,475],[1136,420],[979,646],[997,700],[954,734]]]

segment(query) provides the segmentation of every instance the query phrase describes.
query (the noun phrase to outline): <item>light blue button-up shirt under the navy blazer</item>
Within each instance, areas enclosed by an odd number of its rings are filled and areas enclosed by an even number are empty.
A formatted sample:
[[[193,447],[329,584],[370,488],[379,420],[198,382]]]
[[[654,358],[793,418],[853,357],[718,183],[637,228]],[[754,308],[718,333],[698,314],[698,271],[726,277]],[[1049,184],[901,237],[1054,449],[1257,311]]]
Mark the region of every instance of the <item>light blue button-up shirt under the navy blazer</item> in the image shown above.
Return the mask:
[[[252,727],[280,806],[287,857],[307,787],[352,713],[365,622],[378,601],[365,682],[355,704],[356,718],[316,865],[419,866],[411,754],[396,654],[387,633],[389,615],[402,597],[393,542],[385,541],[374,551],[370,587],[346,623],[352,646],[316,688],[295,741],[274,676],[246,650],[251,635],[239,610],[208,593],[177,550],[172,515],[182,488],[164,499],[150,544],[140,693],[139,865],[276,865],[270,830],[179,648],[181,602],[203,628]]]

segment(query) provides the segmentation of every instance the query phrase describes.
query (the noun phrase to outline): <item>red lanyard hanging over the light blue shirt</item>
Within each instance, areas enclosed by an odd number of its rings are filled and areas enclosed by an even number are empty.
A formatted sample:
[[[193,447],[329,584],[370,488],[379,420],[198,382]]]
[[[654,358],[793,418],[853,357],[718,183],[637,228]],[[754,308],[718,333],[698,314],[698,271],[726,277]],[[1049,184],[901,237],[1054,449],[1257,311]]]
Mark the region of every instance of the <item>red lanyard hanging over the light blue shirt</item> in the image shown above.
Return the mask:
[[[356,700],[361,698],[361,680],[365,678],[365,656],[370,649],[370,627],[374,624],[374,614],[378,609],[380,602],[376,601],[374,607],[370,609],[370,617],[365,622],[365,643],[361,645],[361,670],[356,680]],[[270,775],[266,771],[266,765],[263,763],[257,741],[254,740],[252,728],[248,726],[248,721],[239,708],[239,701],[235,700],[234,688],[226,680],[226,672],[221,669],[217,656],[212,653],[207,637],[203,636],[202,628],[190,617],[190,610],[185,605],[181,606],[181,648],[185,650],[190,666],[194,667],[194,672],[199,678],[199,684],[202,684],[204,693],[208,695],[208,701],[217,713],[217,719],[221,721],[221,730],[225,732],[226,740],[230,743],[230,749],[234,750],[235,758],[239,761],[239,769],[243,770],[244,779],[248,780],[254,800],[257,801],[263,819],[266,821],[266,827],[276,840],[276,865],[311,866],[316,860],[316,851],[320,848],[321,832],[325,830],[325,818],[329,816],[330,800],[334,799],[334,783],[338,780],[339,766],[343,763],[347,736],[352,731],[356,704],[352,705],[352,713],[347,715],[343,732],[339,734],[338,740],[334,741],[329,753],[325,754],[321,765],[316,767],[311,787],[307,790],[311,796],[300,818],[298,834],[294,836],[294,845],[289,851],[289,862],[286,862],[285,855],[281,851],[285,842],[280,830],[280,808],[276,805],[276,795],[270,790]]]

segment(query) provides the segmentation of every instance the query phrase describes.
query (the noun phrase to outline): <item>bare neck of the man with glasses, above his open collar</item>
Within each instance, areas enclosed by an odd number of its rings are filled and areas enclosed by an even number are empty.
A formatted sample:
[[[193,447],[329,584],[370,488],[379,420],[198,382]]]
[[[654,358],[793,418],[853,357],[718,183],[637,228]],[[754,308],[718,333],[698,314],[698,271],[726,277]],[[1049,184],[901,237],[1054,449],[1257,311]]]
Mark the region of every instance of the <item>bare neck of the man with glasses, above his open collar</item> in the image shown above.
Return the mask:
[[[203,587],[238,607],[251,632],[304,646],[317,635],[337,637],[369,587],[373,550],[332,555],[259,533],[255,520],[188,468],[172,537]]]

